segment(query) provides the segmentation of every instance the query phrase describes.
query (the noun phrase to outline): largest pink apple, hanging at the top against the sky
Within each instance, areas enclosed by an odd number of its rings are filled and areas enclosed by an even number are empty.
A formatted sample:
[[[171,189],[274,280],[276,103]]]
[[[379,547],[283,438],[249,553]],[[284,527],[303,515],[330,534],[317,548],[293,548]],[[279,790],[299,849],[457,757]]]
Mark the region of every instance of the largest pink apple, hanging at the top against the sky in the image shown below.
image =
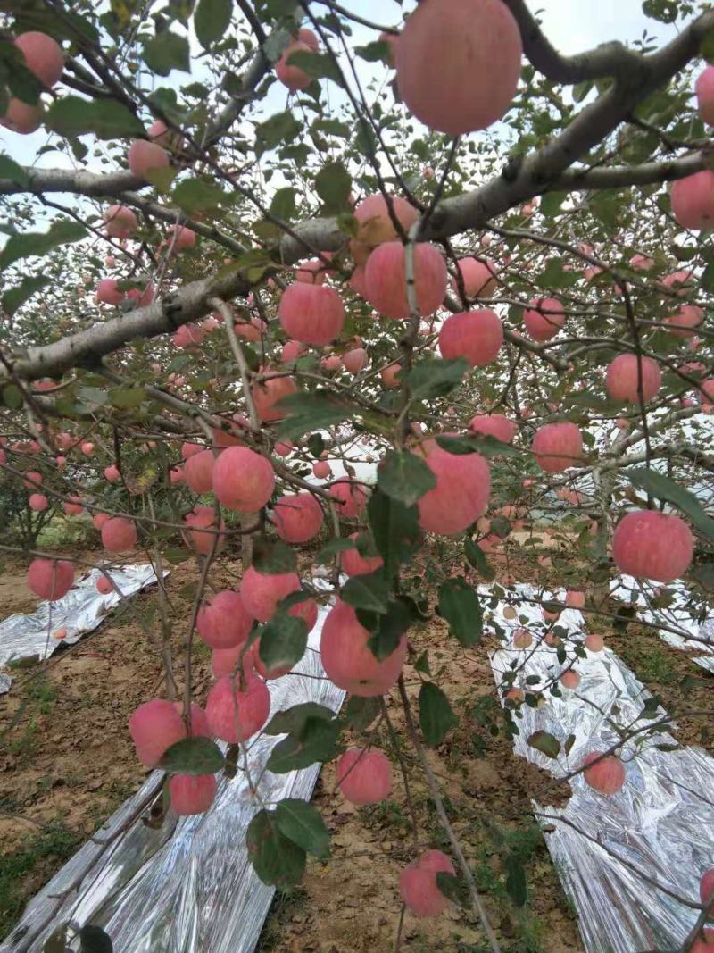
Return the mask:
[[[396,45],[397,87],[429,129],[476,132],[507,112],[522,55],[520,30],[501,0],[428,0]]]

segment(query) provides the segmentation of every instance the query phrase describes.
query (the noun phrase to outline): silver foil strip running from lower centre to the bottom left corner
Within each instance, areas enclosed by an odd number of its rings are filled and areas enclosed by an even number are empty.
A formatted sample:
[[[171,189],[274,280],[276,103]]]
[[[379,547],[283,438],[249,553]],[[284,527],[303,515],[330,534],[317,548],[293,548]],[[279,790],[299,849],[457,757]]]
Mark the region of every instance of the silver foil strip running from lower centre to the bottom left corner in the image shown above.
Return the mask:
[[[313,581],[319,585],[320,580]],[[270,717],[306,701],[339,711],[345,693],[325,678],[319,655],[328,608],[320,609],[307,653],[294,670],[300,674],[268,682]],[[253,779],[282,737],[260,735],[248,746]],[[264,801],[308,800],[320,767],[286,775],[266,772],[259,795]],[[161,791],[162,778],[162,772],[152,772],[97,831],[94,839],[113,839],[104,855],[98,843],[88,841],[33,898],[1,953],[39,953],[51,931],[67,922],[101,926],[116,953],[250,953],[255,948],[274,888],[260,882],[248,862],[246,830],[260,804],[248,790],[245,773],[219,778],[206,814],[177,818],[169,810],[152,828],[141,816]],[[69,948],[78,950],[78,942]]]

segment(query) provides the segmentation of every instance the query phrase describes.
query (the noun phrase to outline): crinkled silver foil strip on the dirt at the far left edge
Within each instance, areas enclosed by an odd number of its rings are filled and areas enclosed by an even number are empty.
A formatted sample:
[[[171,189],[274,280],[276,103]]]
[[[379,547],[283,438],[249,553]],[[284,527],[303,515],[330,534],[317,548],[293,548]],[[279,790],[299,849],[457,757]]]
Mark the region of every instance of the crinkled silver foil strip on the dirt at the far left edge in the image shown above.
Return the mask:
[[[9,616],[0,622],[0,667],[9,661],[32,656],[49,659],[60,645],[72,645],[88,632],[93,632],[122,598],[156,582],[156,575],[148,563],[122,566],[108,570],[108,573],[118,592],[112,590],[107,596],[97,592],[97,581],[104,574],[92,569],[72,586],[64,598],[52,603],[40,602],[35,612]],[[51,634],[60,629],[67,629],[65,639],[53,639]],[[11,682],[10,675],[0,673],[0,693],[9,691]]]

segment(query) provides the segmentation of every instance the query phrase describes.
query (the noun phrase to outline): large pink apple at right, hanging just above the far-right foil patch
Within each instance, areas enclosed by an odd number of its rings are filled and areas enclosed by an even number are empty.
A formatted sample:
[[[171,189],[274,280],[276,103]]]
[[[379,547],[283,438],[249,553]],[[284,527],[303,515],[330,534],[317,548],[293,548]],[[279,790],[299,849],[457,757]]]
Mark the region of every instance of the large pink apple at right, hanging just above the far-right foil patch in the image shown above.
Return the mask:
[[[626,514],[612,537],[612,558],[622,573],[671,582],[689,568],[694,539],[683,519],[656,510]]]

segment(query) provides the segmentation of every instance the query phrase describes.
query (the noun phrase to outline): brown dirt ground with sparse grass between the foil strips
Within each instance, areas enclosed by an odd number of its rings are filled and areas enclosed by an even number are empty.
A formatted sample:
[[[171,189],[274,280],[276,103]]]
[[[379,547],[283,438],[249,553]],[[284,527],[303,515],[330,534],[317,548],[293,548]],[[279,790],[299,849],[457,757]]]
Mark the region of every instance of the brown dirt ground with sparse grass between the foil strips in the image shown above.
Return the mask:
[[[492,560],[499,578],[528,579],[542,572],[535,554],[516,552],[507,565]],[[0,565],[0,618],[33,607],[24,575],[20,563],[5,560]],[[195,578],[190,562],[171,568],[172,618],[180,619],[173,634],[177,647],[188,624],[189,583]],[[213,582],[220,588],[234,584],[235,578],[233,565],[225,572],[219,569]],[[30,896],[146,776],[135,759],[127,721],[137,704],[162,690],[162,670],[149,638],[157,628],[154,604],[150,590],[140,594],[75,646],[14,672],[12,690],[0,696],[0,936],[9,932]],[[665,708],[706,707],[712,677],[684,653],[639,626],[624,634],[599,628],[607,644],[660,694]],[[577,923],[530,813],[530,798],[543,789],[545,776],[513,755],[486,658],[488,644],[486,636],[484,644],[466,651],[438,619],[414,633],[410,660],[428,652],[430,670],[460,719],[429,758],[504,953],[575,953],[582,949]],[[180,675],[177,669],[179,682]],[[210,682],[208,651],[200,643],[193,679],[200,698]],[[407,666],[409,695],[418,686],[416,673]],[[388,712],[399,729],[402,716],[395,699]],[[681,740],[712,750],[701,719],[681,724]],[[373,740],[389,749],[383,722]],[[420,844],[448,849],[421,772],[406,749],[403,758]],[[398,872],[413,856],[403,782],[399,770],[394,775],[389,801],[356,808],[334,792],[334,766],[326,766],[314,801],[330,829],[332,857],[308,863],[301,887],[276,895],[259,950],[362,953],[394,948],[401,909]],[[565,784],[551,782],[548,802],[563,803],[567,792]],[[522,907],[506,891],[506,853],[526,872]],[[435,920],[407,914],[401,940],[401,948],[414,953],[487,950],[478,923],[456,906]]]

